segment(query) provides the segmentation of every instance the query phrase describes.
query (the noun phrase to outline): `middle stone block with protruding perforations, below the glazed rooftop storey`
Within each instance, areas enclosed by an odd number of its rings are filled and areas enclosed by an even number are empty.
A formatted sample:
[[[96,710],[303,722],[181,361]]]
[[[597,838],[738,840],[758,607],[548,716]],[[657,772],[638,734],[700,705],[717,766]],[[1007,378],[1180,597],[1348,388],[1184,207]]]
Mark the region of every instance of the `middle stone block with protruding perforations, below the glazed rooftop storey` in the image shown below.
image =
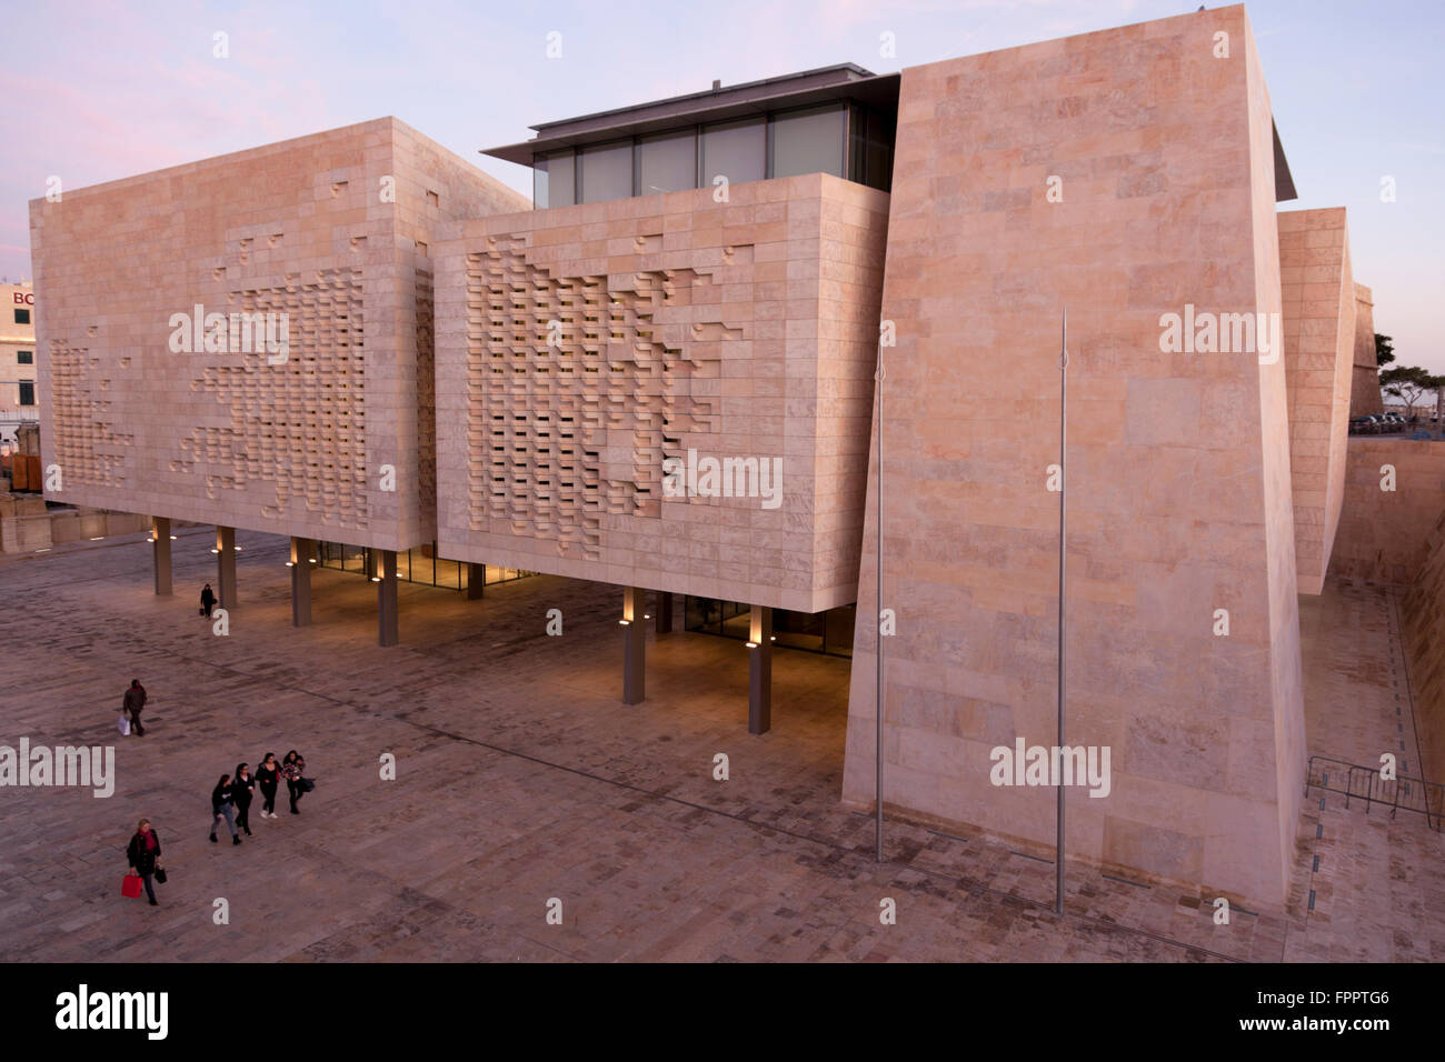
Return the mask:
[[[444,230],[445,556],[808,613],[854,600],[887,195],[825,175],[728,192]],[[669,496],[663,461],[689,451],[780,468],[777,504]]]

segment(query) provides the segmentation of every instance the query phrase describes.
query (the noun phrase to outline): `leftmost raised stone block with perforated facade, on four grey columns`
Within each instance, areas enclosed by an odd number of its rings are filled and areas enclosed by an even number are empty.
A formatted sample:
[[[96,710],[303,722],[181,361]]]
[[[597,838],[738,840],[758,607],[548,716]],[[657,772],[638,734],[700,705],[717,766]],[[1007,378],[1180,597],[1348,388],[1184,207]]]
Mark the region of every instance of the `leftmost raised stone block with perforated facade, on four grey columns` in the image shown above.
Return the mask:
[[[394,118],[35,199],[48,497],[429,540],[426,233],[522,202]]]

